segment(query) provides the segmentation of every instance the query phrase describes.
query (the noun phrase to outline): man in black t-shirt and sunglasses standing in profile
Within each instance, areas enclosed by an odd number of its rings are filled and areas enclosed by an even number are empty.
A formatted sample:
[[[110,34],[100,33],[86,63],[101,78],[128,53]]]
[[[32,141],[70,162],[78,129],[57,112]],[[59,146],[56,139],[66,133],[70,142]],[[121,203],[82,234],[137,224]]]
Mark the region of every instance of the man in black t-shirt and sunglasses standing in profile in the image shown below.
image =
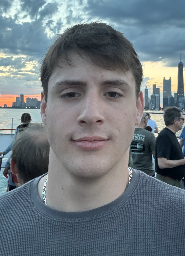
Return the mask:
[[[166,127],[159,133],[156,140],[156,178],[182,188],[185,158],[175,134],[182,129],[183,113],[177,107],[166,108],[164,121]]]

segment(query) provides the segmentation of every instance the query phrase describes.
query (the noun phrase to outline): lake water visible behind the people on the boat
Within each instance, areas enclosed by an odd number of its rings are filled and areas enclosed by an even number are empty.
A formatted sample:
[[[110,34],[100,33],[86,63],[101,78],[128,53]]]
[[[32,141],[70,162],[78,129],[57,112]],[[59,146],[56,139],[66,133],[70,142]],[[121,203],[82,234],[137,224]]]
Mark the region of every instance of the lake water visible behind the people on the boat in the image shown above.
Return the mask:
[[[30,113],[33,123],[42,122],[41,116],[40,116],[40,109],[0,109],[0,129],[11,129],[12,118],[14,118],[13,129],[15,129],[18,125],[20,125],[21,115],[25,112]],[[156,121],[159,132],[165,128],[163,114],[151,114],[151,119]],[[0,131],[0,133],[11,133],[11,132]],[[177,136],[179,136],[180,134],[181,134],[181,131],[176,133]],[[6,187],[7,187],[7,178],[4,177],[3,170],[2,170],[0,174],[0,195],[6,193]]]

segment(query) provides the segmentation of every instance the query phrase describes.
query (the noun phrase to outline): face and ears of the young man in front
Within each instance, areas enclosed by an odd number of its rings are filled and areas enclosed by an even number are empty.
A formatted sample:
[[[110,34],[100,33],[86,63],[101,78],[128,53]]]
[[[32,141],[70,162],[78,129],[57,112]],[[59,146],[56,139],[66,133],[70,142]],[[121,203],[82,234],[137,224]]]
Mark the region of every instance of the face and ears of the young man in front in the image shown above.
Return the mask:
[[[130,71],[105,70],[75,53],[70,57],[73,66],[56,67],[49,79],[42,120],[50,154],[57,156],[61,166],[74,176],[97,178],[128,152],[143,115],[143,95],[136,102]]]

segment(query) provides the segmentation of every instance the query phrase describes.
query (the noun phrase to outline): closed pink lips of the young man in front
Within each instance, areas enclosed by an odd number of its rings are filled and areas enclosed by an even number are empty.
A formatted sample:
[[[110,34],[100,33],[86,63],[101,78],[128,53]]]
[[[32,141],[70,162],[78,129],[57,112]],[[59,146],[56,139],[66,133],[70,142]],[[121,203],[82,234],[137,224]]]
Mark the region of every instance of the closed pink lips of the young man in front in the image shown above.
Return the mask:
[[[105,146],[108,139],[100,136],[83,137],[77,140],[73,140],[75,146],[82,150],[99,150]]]

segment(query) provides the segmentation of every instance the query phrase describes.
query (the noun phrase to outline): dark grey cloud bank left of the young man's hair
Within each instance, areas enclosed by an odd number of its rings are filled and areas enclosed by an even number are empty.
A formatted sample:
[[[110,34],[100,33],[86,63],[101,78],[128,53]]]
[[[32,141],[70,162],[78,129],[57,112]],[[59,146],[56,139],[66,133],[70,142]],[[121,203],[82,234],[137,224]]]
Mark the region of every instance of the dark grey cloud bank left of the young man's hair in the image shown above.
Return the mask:
[[[40,20],[16,24],[12,18],[0,16],[0,49],[5,53],[41,57],[51,44]]]

